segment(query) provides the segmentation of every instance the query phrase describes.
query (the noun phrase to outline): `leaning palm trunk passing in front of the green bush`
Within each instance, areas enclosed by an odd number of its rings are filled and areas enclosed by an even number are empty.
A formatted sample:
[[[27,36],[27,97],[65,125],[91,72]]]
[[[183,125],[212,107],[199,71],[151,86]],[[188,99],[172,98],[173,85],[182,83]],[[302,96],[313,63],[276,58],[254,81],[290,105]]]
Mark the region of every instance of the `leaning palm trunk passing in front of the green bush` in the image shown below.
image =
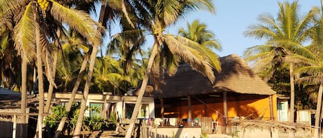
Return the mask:
[[[81,109],[80,109],[79,117],[77,118],[76,128],[75,128],[73,137],[80,137],[81,136],[81,128],[82,128],[83,117],[84,117],[85,108],[86,108],[87,95],[89,94],[90,83],[92,80],[92,73],[93,73],[93,69],[94,69],[94,63],[96,60],[97,52],[98,52],[98,45],[94,44],[93,49],[92,49],[92,54],[90,57],[89,71],[87,72],[87,79],[85,82],[83,98],[82,98],[82,102],[81,102]]]

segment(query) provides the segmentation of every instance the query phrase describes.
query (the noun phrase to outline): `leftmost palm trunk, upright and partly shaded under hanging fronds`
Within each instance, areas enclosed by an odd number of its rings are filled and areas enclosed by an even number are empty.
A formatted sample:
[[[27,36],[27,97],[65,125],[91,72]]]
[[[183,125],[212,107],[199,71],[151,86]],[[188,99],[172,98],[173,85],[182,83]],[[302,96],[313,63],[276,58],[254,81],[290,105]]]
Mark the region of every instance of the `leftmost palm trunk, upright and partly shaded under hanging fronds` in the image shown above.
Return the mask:
[[[21,113],[23,113],[22,124],[25,124],[25,108],[27,101],[27,58],[23,52],[21,58]]]

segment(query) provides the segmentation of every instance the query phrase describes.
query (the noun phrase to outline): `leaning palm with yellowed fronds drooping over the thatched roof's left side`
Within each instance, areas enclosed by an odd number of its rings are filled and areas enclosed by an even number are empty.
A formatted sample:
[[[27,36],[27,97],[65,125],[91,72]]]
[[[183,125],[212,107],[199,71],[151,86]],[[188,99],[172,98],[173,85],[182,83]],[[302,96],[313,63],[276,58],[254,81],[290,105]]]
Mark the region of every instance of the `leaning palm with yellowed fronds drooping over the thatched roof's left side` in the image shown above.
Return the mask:
[[[134,122],[138,115],[149,76],[152,76],[152,72],[158,73],[158,71],[155,71],[155,69],[158,69],[157,67],[160,67],[158,65],[169,69],[169,73],[174,73],[176,72],[175,68],[178,66],[178,62],[183,60],[189,62],[193,69],[205,74],[213,82],[213,67],[211,67],[210,62],[218,60],[217,58],[209,58],[210,53],[207,47],[200,47],[198,43],[183,36],[164,34],[166,27],[176,23],[180,16],[191,10],[202,9],[213,12],[213,5],[210,1],[134,1],[133,3],[134,7],[138,9],[138,13],[143,17],[143,27],[152,33],[154,45],[152,46],[152,53],[147,63],[143,82],[138,91],[136,105],[125,136],[127,138],[132,135]],[[202,54],[203,52],[204,54]],[[152,71],[153,66],[154,71]],[[215,68],[219,71],[219,67],[220,65]]]

